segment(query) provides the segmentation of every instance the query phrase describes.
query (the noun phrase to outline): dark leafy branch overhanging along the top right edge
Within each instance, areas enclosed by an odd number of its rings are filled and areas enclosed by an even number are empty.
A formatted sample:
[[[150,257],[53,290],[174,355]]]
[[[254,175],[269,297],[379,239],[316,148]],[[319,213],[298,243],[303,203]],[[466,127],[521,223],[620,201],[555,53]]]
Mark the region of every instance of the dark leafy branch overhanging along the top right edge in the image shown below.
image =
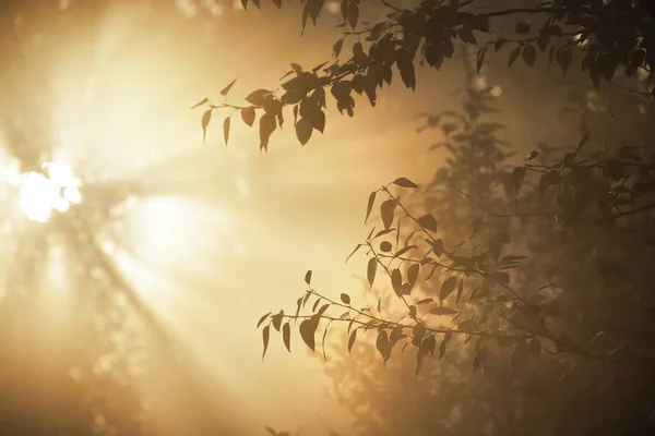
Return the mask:
[[[282,1],[274,1],[282,7]],[[302,29],[308,21],[317,23],[324,0],[300,0]],[[372,2],[371,2],[372,3]],[[557,63],[565,74],[574,61],[587,72],[598,88],[605,80],[611,82],[622,70],[627,78],[638,72],[653,78],[655,65],[655,37],[652,34],[654,5],[646,0],[553,0],[522,8],[478,8],[478,2],[424,0],[413,9],[400,9],[390,1],[380,0],[389,14],[378,23],[360,20],[365,4],[360,0],[342,0],[344,20],[338,27],[343,37],[333,47],[333,60],[309,70],[294,63],[282,80],[281,88],[257,89],[245,99],[247,106],[231,105],[227,95],[231,84],[221,95],[222,104],[204,98],[194,107],[205,107],[202,129],[206,129],[214,111],[238,111],[242,121],[252,126],[257,113],[260,148],[267,149],[269,140],[284,124],[283,109],[293,107],[294,128],[298,141],[305,145],[313,131],[325,128],[326,90],[336,101],[341,113],[355,113],[354,94],[365,95],[371,106],[378,100],[378,90],[391,84],[394,68],[407,88],[416,88],[416,63],[439,70],[455,55],[457,43],[477,47],[476,64],[484,65],[490,51],[508,53],[508,68],[521,59],[533,68],[539,56],[547,56],[548,64]],[[245,8],[260,1],[242,1]],[[505,3],[507,4],[507,3]],[[369,4],[370,7],[370,4]],[[537,26],[532,23],[538,23]],[[502,37],[513,29],[514,36]],[[346,41],[352,45],[352,56],[342,57]],[[539,55],[541,52],[541,55]],[[287,78],[290,77],[290,78]],[[624,85],[617,85],[624,87]],[[652,89],[629,92],[652,98]],[[224,119],[227,143],[231,116]]]

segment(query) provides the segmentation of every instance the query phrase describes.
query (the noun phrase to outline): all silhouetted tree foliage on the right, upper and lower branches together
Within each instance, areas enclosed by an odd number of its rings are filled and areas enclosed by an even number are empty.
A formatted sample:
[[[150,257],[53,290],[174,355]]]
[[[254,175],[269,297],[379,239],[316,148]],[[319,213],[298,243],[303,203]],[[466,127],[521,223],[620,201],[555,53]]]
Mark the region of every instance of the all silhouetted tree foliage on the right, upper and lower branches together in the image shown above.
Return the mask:
[[[305,27],[323,2],[303,3]],[[305,144],[313,130],[324,129],[326,87],[337,109],[353,116],[353,90],[374,105],[394,65],[405,86],[415,88],[414,61],[439,69],[457,39],[477,46],[478,72],[488,53],[505,48],[508,68],[519,59],[533,68],[545,52],[564,74],[579,59],[596,89],[605,80],[630,99],[583,93],[574,108],[582,120],[575,144],[541,144],[522,159],[501,140],[504,126],[486,119],[493,111],[492,88],[468,87],[463,111],[426,114],[427,126],[441,131],[438,147],[450,154],[448,164],[428,185],[398,178],[372,192],[366,218],[378,218],[379,210],[379,219],[353,254],[369,256],[369,287],[386,278],[391,302],[361,307],[348,293],[319,293],[308,271],[295,311],[261,317],[264,354],[273,330],[290,349],[296,328],[311,351],[325,354],[329,328],[343,325],[341,354],[329,371],[341,382],[340,400],[367,411],[359,424],[368,434],[398,434],[410,425],[416,434],[480,434],[483,424],[488,434],[647,432],[655,405],[644,400],[655,358],[647,316],[655,279],[648,262],[655,162],[644,140],[652,126],[635,132],[614,120],[621,110],[635,113],[640,102],[632,97],[652,98],[653,5],[556,1],[478,12],[474,1],[421,1],[413,10],[381,3],[391,10],[386,20],[361,25],[360,2],[342,2],[343,27],[352,27],[344,39],[365,39],[353,45],[347,61],[310,71],[294,64],[295,76],[282,90],[257,90],[247,97],[250,106],[202,101],[209,105],[203,129],[224,107],[246,113],[249,125],[263,111],[260,146],[266,149],[271,133],[282,128],[283,108],[291,106]],[[533,32],[526,15],[543,25]],[[496,37],[507,28],[520,39]],[[334,46],[336,59],[344,39]],[[633,77],[638,71],[645,81]],[[591,101],[608,97],[606,110]],[[358,349],[362,337],[369,341]],[[346,352],[356,352],[358,361]],[[370,373],[372,354],[392,367],[393,377]],[[397,378],[396,370],[406,372],[409,364],[419,375],[415,396],[398,383],[407,379]],[[464,364],[484,374],[463,379]],[[428,374],[420,376],[424,367]],[[422,408],[434,392],[452,399],[439,403],[438,414]],[[558,412],[562,404],[567,413]],[[448,424],[463,407],[475,420]]]

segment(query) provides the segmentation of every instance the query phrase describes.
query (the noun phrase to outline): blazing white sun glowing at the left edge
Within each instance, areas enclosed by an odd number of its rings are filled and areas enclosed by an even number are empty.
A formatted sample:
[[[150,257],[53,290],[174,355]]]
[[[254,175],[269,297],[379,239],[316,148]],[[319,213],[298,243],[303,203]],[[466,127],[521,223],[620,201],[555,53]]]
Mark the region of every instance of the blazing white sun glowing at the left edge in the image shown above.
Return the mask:
[[[23,174],[20,205],[23,214],[36,222],[46,222],[53,211],[66,213],[82,201],[81,181],[69,167],[59,162],[44,165],[44,172]]]

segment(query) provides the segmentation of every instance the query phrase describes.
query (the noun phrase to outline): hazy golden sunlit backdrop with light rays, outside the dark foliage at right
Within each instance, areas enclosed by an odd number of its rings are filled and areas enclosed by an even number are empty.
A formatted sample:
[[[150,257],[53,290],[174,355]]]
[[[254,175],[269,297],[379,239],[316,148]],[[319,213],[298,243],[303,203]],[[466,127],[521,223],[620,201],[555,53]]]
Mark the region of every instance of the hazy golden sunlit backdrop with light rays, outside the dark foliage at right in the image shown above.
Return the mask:
[[[464,59],[421,71],[420,93],[332,110],[306,147],[289,129],[262,154],[240,121],[226,147],[217,119],[203,147],[193,104],[237,77],[239,104],[331,56],[337,2],[302,37],[298,5],[264,3],[0,2],[0,434],[347,431],[320,359],[272,341],[262,363],[254,325],[308,269],[358,292],[366,259],[344,259],[368,193],[431,178],[416,116],[458,105],[471,77]],[[496,74],[508,140],[557,137],[540,123],[568,98],[555,81]]]

